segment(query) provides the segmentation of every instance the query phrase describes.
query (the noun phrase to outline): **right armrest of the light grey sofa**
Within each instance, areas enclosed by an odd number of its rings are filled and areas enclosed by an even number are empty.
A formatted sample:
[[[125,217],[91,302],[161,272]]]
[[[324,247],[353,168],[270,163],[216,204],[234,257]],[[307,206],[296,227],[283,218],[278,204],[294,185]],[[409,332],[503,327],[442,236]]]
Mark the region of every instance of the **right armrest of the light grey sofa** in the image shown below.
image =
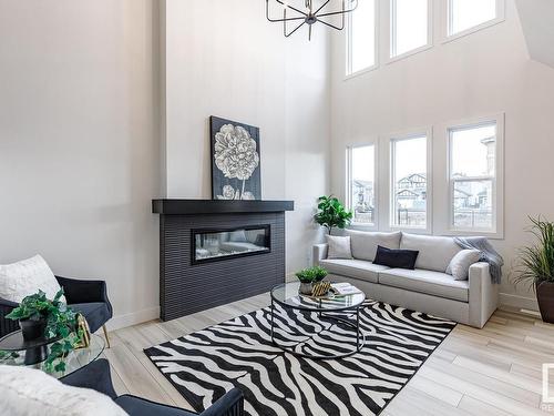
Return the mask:
[[[470,325],[482,328],[499,305],[499,285],[492,283],[489,263],[470,266]]]

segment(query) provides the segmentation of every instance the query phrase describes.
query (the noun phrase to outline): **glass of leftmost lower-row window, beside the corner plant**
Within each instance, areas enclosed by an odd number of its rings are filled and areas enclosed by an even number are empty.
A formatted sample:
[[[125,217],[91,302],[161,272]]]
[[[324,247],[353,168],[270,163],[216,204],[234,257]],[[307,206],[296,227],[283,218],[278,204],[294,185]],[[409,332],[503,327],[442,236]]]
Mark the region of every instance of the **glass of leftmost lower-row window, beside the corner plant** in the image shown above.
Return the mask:
[[[375,146],[352,148],[350,201],[353,222],[375,224]]]

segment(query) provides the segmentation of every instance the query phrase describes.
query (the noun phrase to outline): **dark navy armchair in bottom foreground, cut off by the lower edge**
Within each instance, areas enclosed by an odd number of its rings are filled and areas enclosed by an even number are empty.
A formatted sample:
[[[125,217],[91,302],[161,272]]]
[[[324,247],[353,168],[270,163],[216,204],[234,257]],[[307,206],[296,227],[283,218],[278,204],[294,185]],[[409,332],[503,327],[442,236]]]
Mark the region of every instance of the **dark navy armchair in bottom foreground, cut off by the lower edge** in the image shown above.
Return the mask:
[[[68,386],[92,388],[110,396],[120,407],[131,416],[193,416],[198,415],[178,407],[161,405],[144,398],[131,395],[117,396],[112,385],[110,363],[96,359],[88,366],[78,369],[70,375],[60,378]],[[233,388],[219,398],[209,408],[199,414],[201,416],[243,416],[244,397],[238,388]]]

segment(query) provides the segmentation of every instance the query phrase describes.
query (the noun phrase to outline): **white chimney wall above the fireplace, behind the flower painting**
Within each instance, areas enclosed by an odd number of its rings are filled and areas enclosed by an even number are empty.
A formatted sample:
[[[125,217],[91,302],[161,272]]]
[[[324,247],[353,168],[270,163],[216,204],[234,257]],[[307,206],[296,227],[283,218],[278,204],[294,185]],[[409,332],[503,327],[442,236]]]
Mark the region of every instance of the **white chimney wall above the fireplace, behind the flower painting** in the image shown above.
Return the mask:
[[[285,39],[259,0],[167,0],[164,16],[167,195],[211,197],[209,115],[259,126],[263,199],[296,203],[287,272],[308,265],[329,187],[327,30]]]

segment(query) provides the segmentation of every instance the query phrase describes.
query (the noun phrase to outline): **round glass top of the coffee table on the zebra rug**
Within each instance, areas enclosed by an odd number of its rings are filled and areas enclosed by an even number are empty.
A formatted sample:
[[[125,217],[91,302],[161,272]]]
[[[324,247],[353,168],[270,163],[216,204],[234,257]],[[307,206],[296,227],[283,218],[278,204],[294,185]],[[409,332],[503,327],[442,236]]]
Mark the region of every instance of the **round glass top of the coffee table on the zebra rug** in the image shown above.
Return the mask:
[[[283,283],[271,290],[271,300],[275,302],[295,310],[304,311],[346,311],[353,310],[366,301],[363,292],[351,295],[329,295],[326,297],[314,297],[300,295],[299,282]]]

